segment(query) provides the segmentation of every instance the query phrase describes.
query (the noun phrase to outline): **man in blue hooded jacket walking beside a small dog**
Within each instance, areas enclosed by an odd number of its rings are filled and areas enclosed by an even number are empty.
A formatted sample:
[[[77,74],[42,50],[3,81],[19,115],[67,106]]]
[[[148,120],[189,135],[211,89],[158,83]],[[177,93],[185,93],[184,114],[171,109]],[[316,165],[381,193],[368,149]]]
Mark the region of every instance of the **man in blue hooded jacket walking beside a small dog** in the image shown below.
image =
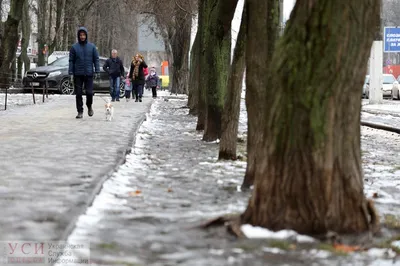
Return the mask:
[[[76,118],[83,117],[83,86],[86,91],[88,115],[93,116],[93,76],[95,79],[100,78],[99,53],[96,46],[88,42],[88,32],[85,27],[78,29],[78,42],[69,51],[68,74],[75,87],[76,109],[78,111]]]

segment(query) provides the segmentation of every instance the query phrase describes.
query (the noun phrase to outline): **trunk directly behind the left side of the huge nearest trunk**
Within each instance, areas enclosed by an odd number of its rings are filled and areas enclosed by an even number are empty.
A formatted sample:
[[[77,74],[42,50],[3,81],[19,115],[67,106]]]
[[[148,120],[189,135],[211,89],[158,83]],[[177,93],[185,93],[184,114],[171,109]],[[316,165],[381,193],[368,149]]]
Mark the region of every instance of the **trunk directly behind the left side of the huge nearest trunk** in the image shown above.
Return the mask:
[[[256,169],[256,149],[263,139],[263,108],[270,62],[279,35],[279,0],[249,0],[247,9],[249,42],[246,67],[247,168],[242,188],[253,185]],[[250,15],[252,14],[252,15]],[[262,35],[260,35],[260,33]],[[260,38],[260,36],[265,36]],[[257,51],[256,53],[254,51]],[[261,57],[263,54],[265,57]],[[271,66],[273,67],[273,66]],[[271,87],[272,90],[274,88]]]

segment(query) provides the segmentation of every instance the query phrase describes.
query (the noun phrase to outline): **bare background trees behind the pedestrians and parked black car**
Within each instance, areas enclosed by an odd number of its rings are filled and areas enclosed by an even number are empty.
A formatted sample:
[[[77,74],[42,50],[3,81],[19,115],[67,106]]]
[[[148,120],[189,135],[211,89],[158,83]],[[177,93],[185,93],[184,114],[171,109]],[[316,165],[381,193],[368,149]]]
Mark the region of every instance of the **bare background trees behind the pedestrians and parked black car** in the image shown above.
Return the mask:
[[[9,83],[15,60],[29,69],[27,47],[32,28],[37,28],[39,48],[38,65],[44,65],[42,53],[69,50],[76,41],[76,30],[85,26],[89,41],[94,42],[103,56],[112,48],[120,51],[124,62],[129,62],[138,49],[138,27],[149,24],[161,36],[170,62],[172,88],[176,93],[188,92],[189,50],[193,16],[197,11],[196,0],[1,0],[0,7],[9,4],[8,19],[0,23],[0,84]],[[21,8],[22,7],[22,8]],[[4,10],[0,10],[4,12]],[[36,25],[32,25],[35,23]],[[21,39],[21,55],[16,50]]]

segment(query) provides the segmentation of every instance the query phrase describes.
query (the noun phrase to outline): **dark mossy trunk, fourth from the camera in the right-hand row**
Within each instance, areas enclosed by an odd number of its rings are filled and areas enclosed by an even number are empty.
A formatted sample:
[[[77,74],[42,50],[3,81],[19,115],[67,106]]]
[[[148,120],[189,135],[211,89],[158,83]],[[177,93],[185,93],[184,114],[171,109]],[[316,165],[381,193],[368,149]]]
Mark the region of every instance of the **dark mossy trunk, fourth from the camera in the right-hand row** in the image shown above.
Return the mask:
[[[205,8],[206,123],[204,141],[221,137],[221,116],[231,59],[231,22],[237,0],[207,0]],[[203,88],[202,88],[203,89]]]

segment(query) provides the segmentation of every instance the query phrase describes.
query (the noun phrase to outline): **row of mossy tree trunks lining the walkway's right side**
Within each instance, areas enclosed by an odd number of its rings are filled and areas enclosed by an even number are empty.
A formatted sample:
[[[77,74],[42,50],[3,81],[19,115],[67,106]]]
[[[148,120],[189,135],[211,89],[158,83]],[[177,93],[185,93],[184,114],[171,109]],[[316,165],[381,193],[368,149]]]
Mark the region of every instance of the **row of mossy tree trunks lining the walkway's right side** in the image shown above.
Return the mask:
[[[279,0],[245,0],[230,60],[237,0],[199,0],[190,113],[203,140],[236,158],[246,70],[247,171],[241,223],[301,233],[358,233],[377,216],[363,193],[360,91],[380,0],[297,0],[279,37]]]

